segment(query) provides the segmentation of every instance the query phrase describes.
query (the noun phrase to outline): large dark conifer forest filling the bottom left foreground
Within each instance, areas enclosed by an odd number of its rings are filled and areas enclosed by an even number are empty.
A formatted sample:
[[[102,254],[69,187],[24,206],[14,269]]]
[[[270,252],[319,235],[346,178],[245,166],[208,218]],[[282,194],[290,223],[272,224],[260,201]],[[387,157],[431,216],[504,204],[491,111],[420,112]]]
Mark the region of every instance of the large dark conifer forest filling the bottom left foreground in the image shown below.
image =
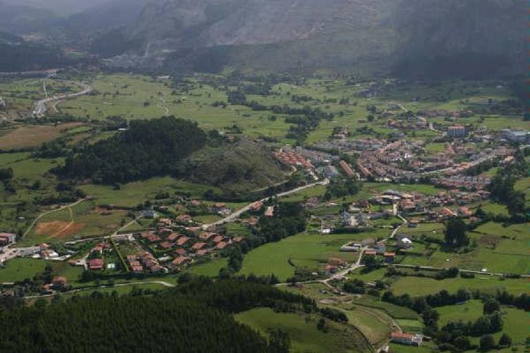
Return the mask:
[[[310,299],[244,279],[188,277],[176,290],[142,294],[95,292],[35,306],[3,299],[0,351],[286,353],[286,334],[274,332],[267,340],[232,314],[277,302],[316,310]]]

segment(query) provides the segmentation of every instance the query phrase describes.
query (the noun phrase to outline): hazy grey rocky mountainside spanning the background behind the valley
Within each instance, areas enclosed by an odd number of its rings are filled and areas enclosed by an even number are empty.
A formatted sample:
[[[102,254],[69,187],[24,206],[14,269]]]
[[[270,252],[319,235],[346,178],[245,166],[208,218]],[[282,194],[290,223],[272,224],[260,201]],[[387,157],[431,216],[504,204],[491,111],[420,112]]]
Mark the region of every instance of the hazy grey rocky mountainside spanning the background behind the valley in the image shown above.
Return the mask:
[[[526,59],[524,0],[55,0],[46,7],[72,12],[76,3],[77,13],[40,32],[116,67],[473,77],[520,73]]]

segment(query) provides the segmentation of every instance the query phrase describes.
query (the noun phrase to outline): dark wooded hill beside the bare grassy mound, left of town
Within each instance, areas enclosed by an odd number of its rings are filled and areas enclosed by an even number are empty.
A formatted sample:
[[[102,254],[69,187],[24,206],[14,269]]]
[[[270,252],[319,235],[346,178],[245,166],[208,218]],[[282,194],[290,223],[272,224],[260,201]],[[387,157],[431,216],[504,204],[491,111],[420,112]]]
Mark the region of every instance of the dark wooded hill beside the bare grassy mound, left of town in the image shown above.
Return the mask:
[[[74,151],[54,172],[101,184],[178,174],[178,162],[205,144],[206,133],[195,122],[174,117],[136,120],[129,130]]]

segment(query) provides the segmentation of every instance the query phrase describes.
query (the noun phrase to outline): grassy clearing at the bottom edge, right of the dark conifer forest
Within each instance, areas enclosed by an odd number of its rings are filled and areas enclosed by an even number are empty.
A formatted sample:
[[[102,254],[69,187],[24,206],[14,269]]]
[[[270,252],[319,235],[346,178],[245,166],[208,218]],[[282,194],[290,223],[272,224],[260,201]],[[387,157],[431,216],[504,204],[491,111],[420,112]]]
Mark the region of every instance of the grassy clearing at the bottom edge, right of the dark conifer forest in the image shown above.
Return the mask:
[[[358,352],[350,343],[354,337],[349,337],[350,340],[348,340],[347,332],[330,330],[324,333],[317,330],[318,317],[277,313],[268,308],[248,310],[235,314],[234,317],[240,323],[250,326],[266,337],[268,330],[283,330],[290,337],[293,353]]]

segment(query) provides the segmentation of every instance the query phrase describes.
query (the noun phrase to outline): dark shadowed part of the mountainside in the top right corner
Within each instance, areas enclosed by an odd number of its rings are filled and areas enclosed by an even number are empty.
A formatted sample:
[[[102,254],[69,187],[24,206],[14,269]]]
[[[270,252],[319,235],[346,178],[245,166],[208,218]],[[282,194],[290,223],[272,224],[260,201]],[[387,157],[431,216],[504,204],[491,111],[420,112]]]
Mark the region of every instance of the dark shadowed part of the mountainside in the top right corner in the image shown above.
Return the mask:
[[[522,0],[406,0],[396,74],[483,77],[524,73],[528,24]]]

